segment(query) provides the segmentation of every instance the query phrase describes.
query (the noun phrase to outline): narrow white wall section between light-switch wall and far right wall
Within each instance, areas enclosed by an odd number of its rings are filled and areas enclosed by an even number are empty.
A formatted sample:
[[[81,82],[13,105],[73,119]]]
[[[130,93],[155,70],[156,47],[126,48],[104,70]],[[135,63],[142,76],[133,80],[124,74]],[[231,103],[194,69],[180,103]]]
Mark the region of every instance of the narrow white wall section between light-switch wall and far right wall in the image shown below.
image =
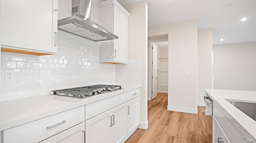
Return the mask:
[[[204,88],[212,88],[212,29],[197,31],[198,40],[198,84],[197,105],[205,106]]]

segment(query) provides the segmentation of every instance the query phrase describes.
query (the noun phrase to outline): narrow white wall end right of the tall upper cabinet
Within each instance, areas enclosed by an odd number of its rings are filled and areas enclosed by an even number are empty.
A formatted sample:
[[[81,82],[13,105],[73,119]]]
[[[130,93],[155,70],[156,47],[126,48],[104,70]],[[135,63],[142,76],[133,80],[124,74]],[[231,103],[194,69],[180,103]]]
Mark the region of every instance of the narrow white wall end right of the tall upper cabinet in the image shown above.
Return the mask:
[[[148,5],[146,1],[127,4],[124,8],[130,13],[128,17],[128,60],[141,61],[141,128],[148,126]]]

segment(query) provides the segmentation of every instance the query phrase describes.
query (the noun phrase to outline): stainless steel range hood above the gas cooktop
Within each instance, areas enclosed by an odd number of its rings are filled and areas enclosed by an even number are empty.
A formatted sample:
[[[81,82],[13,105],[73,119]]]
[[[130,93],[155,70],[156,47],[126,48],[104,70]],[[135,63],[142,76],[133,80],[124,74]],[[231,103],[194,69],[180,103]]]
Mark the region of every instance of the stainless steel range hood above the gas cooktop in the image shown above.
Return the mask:
[[[72,16],[58,20],[58,29],[92,41],[118,39],[91,20],[91,0],[72,0]]]

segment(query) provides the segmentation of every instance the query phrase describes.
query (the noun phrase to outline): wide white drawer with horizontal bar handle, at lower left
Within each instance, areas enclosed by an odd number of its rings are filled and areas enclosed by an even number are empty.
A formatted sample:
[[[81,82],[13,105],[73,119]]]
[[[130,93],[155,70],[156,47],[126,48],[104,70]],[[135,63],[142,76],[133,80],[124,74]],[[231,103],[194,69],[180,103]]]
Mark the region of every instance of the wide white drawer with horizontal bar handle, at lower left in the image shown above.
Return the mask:
[[[2,132],[4,143],[36,143],[84,121],[84,106],[64,111]]]

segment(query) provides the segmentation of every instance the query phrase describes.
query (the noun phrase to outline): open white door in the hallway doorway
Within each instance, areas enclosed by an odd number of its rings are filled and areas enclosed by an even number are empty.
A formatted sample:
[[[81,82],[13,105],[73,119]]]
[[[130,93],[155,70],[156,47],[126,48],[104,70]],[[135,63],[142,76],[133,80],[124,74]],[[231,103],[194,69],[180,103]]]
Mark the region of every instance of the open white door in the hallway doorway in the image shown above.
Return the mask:
[[[156,98],[157,90],[157,47],[152,44],[152,99]]]

